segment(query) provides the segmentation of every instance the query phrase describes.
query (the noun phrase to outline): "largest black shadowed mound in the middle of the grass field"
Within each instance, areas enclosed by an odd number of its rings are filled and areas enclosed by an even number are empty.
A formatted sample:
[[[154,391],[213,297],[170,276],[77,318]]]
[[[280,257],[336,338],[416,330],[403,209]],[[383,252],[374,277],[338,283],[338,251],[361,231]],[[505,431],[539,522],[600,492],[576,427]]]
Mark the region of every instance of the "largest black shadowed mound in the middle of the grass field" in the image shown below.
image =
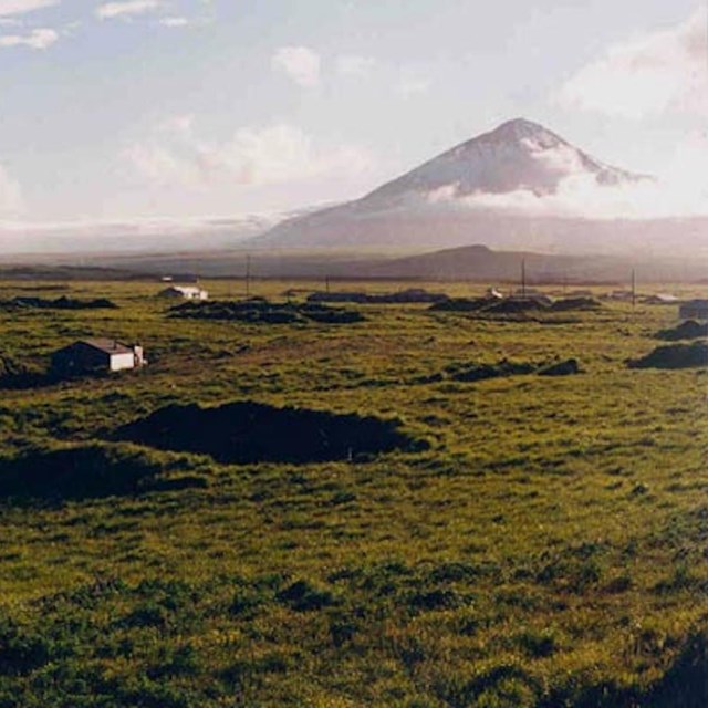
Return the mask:
[[[242,402],[217,408],[167,406],[123,426],[115,437],[159,449],[201,452],[225,464],[323,462],[427,447],[398,426],[372,416]]]

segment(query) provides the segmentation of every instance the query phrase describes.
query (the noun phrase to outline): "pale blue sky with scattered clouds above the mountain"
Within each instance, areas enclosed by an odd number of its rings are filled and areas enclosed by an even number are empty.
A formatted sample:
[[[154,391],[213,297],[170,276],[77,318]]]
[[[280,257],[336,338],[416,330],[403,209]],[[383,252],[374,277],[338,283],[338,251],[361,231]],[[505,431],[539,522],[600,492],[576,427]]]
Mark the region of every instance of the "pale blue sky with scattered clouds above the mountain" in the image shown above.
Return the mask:
[[[705,187],[706,0],[0,0],[0,223],[356,198],[520,116]]]

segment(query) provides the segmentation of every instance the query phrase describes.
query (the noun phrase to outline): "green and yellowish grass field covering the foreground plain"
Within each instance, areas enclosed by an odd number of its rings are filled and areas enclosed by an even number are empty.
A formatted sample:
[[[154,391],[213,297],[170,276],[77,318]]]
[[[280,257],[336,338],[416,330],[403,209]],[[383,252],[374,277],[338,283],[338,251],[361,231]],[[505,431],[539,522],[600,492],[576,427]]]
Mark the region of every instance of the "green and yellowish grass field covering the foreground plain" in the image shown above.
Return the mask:
[[[150,362],[0,391],[0,708],[708,702],[708,369],[626,365],[677,308],[253,324],[168,317],[158,288],[0,310],[14,361],[98,335]],[[571,357],[582,373],[447,375]],[[244,400],[396,419],[420,445],[225,465],[114,440]]]

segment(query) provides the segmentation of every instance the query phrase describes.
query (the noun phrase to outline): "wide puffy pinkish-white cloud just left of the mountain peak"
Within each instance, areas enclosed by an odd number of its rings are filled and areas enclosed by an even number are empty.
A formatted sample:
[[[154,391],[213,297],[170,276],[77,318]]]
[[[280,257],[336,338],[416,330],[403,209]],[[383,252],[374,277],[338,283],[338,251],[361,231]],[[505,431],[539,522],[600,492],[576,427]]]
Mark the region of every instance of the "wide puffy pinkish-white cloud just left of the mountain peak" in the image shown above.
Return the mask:
[[[225,142],[195,136],[188,116],[164,122],[125,156],[148,181],[207,189],[216,185],[300,184],[371,169],[371,154],[350,145],[320,146],[298,127],[242,127]]]

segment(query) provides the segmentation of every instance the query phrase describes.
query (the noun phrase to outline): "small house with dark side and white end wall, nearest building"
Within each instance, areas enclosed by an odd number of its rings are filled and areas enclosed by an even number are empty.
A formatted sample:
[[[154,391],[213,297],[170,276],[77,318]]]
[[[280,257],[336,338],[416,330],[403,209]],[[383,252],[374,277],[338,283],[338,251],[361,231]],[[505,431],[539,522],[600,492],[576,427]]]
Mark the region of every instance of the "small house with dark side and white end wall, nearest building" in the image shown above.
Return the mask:
[[[143,347],[105,337],[81,340],[52,355],[52,369],[61,374],[121,372],[145,366]]]

